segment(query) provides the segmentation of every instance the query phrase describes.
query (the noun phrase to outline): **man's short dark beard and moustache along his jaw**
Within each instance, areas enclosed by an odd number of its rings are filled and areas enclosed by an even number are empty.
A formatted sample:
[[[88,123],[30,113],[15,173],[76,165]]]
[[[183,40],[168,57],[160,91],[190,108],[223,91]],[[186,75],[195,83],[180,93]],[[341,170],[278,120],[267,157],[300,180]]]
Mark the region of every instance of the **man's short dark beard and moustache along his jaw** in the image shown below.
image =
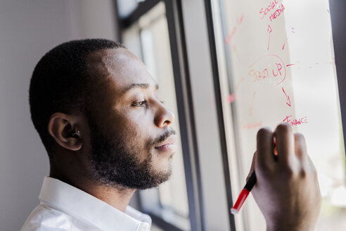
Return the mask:
[[[98,126],[90,123],[91,130],[91,169],[92,177],[101,185],[117,187],[118,189],[148,189],[158,187],[169,179],[171,169],[155,170],[152,166],[155,145],[164,141],[174,130],[149,140],[146,150],[135,146],[133,138],[126,139],[120,134],[104,135]],[[146,152],[146,158],[139,156]]]

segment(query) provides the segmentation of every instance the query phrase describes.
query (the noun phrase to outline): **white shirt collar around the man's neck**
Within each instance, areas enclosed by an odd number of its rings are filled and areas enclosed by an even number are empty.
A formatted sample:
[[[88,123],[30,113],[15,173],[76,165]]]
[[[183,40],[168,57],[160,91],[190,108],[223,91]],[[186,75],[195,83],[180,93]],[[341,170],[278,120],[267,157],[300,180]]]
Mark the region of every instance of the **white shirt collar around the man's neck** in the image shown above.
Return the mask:
[[[52,177],[44,177],[39,194],[41,204],[87,220],[101,230],[138,230],[151,225],[151,219],[127,206],[125,213],[72,185]]]

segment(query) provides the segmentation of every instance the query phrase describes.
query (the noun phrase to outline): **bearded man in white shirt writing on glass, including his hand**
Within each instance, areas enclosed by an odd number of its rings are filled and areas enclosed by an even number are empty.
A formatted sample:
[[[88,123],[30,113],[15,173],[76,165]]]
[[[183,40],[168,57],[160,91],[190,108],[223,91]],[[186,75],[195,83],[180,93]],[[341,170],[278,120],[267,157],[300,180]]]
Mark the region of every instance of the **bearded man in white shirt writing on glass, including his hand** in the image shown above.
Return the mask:
[[[22,230],[150,230],[129,200],[169,178],[176,135],[139,58],[105,39],[56,46],[34,68],[30,110],[51,171]],[[321,196],[302,135],[259,130],[252,169],[267,230],[314,229]]]

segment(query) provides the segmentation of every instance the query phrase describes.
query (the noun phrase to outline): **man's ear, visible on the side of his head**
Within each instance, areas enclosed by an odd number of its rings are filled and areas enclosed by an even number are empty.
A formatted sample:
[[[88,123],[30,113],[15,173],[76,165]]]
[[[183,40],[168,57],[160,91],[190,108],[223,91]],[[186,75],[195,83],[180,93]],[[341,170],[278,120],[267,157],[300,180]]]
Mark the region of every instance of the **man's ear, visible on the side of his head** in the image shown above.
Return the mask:
[[[77,116],[69,116],[65,113],[54,113],[48,123],[49,134],[65,149],[78,151],[82,148],[82,135],[79,131]]]

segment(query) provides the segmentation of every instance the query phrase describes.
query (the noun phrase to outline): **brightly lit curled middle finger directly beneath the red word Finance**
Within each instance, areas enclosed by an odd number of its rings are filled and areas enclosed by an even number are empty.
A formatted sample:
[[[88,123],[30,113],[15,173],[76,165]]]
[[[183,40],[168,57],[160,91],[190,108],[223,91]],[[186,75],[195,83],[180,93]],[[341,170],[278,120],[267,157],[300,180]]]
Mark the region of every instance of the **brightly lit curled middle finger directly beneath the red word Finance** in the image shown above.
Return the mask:
[[[281,167],[290,167],[295,163],[295,146],[292,127],[287,123],[281,123],[274,132],[278,163]]]

